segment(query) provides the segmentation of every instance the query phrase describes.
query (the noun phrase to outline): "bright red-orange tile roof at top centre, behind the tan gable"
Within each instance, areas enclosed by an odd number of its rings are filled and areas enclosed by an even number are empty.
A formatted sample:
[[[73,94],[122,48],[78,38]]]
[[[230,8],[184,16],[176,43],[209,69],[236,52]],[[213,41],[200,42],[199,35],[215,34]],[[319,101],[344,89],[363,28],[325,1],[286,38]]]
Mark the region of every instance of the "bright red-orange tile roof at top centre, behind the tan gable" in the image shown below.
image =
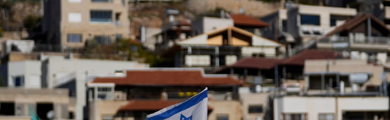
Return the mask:
[[[238,26],[269,26],[268,23],[261,21],[260,19],[252,18],[251,16],[247,16],[245,14],[231,14],[230,17],[232,17],[234,25]]]

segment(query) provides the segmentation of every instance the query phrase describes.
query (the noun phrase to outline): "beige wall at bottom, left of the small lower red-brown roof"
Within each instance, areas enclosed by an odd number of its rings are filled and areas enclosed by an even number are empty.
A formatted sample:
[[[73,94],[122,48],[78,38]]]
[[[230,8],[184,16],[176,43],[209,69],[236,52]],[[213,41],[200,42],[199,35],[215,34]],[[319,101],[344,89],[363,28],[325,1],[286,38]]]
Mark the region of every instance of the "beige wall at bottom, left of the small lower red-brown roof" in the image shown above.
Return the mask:
[[[89,119],[101,120],[103,115],[114,116],[117,110],[128,101],[91,101],[89,107]]]

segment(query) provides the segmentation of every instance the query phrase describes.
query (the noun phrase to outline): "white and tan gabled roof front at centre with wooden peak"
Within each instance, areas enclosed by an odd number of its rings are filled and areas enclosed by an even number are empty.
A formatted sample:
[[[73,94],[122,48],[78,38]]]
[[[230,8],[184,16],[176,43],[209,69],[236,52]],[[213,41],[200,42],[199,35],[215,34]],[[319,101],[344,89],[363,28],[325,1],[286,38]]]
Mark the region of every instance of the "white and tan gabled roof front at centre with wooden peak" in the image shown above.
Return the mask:
[[[200,34],[200,35],[188,38],[188,39],[180,40],[180,41],[177,41],[176,44],[178,44],[178,45],[207,45],[208,36],[217,36],[218,34],[222,34],[223,32],[226,32],[229,30],[231,30],[232,32],[236,32],[238,34],[241,34],[241,35],[245,35],[247,37],[251,37],[251,38],[254,37],[255,39],[252,42],[255,44],[253,46],[262,44],[264,46],[277,46],[277,47],[279,47],[279,46],[283,45],[279,42],[273,41],[273,40],[265,38],[265,37],[261,37],[259,35],[255,35],[251,32],[248,32],[246,30],[243,30],[241,28],[237,28],[234,26],[227,26],[225,28],[217,29],[217,30],[207,32],[204,34]]]

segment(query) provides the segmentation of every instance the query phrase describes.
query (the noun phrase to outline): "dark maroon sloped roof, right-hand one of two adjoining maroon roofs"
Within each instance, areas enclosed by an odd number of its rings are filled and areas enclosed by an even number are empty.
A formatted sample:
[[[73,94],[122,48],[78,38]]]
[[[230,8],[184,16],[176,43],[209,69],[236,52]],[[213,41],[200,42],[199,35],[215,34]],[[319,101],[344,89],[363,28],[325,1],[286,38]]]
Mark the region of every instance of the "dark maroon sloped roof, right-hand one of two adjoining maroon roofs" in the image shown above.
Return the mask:
[[[306,49],[284,60],[282,64],[304,65],[305,60],[326,59],[328,54],[330,59],[334,58],[334,51],[332,50]]]

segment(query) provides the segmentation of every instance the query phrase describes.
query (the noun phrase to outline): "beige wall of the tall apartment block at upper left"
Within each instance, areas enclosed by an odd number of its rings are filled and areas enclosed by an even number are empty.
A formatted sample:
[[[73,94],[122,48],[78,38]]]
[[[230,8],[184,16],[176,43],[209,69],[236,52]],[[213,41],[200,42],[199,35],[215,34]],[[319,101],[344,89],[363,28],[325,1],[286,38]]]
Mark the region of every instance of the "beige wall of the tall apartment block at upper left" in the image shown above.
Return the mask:
[[[112,23],[93,23],[90,22],[91,10],[111,10]],[[69,12],[81,13],[80,23],[71,23],[68,21]],[[121,12],[119,21],[121,25],[115,25],[115,13]],[[128,22],[128,4],[122,5],[121,0],[112,0],[112,2],[92,2],[92,0],[81,0],[78,2],[69,2],[61,0],[61,44],[67,47],[83,47],[86,39],[94,35],[110,35],[112,42],[115,41],[115,34],[121,34],[122,37],[129,37]],[[82,34],[82,42],[67,42],[67,34]],[[91,36],[89,36],[91,34]]]

